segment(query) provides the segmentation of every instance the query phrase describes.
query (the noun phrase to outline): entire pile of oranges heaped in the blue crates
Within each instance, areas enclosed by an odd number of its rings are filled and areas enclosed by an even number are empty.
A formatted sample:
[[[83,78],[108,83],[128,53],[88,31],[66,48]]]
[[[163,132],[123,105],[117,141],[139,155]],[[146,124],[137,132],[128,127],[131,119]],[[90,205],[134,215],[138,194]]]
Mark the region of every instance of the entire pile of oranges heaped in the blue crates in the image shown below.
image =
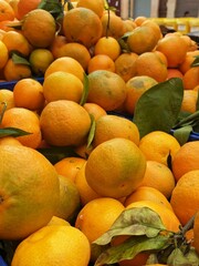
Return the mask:
[[[109,113],[133,115],[143,93],[170,78],[182,81],[181,111],[195,113],[197,43],[163,35],[145,17],[124,20],[104,0],[52,1],[63,8],[56,18],[45,2],[0,0],[0,78],[15,81],[0,90],[0,243],[14,247],[4,259],[100,266],[92,243],[137,207],[167,232],[192,219],[182,237],[198,256],[199,142],[140,137],[132,120]],[[153,265],[150,254],[117,265]]]

